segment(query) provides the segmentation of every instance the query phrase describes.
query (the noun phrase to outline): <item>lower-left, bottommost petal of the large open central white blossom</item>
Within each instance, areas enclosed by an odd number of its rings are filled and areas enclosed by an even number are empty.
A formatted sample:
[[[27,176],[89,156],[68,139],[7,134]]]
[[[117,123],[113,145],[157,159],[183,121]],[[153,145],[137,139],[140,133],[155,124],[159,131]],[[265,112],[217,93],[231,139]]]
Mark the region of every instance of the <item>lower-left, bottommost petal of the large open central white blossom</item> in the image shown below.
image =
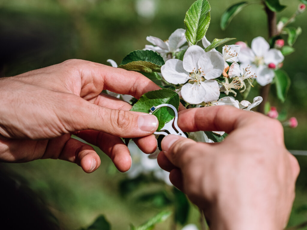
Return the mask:
[[[206,94],[206,90],[200,84],[187,83],[181,88],[182,98],[190,104],[200,104],[204,101]]]

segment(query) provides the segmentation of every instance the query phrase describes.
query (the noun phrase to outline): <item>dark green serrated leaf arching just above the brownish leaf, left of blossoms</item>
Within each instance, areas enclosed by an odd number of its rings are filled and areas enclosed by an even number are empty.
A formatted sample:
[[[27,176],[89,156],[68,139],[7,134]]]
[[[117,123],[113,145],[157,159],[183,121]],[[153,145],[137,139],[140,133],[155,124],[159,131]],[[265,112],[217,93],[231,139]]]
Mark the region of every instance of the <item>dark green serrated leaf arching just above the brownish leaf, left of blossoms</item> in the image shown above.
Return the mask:
[[[134,50],[122,59],[120,65],[125,65],[133,61],[146,61],[163,66],[165,64],[163,57],[152,50]]]

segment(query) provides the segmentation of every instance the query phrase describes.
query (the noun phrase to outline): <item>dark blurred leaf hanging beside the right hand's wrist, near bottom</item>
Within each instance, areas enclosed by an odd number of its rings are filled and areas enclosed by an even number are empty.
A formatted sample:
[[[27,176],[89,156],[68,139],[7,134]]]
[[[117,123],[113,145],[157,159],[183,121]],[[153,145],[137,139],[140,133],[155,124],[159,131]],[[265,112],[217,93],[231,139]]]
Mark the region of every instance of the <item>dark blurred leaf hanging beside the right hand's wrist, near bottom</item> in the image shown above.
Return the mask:
[[[173,189],[175,195],[175,221],[181,225],[186,224],[188,220],[190,204],[184,193],[174,187]]]

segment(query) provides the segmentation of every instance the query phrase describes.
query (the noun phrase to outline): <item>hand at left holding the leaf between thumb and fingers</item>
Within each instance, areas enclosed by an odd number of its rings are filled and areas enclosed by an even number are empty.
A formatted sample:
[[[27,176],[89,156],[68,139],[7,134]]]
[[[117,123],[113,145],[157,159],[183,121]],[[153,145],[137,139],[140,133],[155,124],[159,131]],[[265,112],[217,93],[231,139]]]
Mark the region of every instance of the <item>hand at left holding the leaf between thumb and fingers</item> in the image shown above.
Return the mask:
[[[95,171],[94,149],[71,133],[97,145],[119,171],[131,166],[119,137],[135,139],[146,153],[155,151],[153,115],[130,112],[131,105],[102,94],[110,90],[139,98],[159,86],[142,74],[83,60],[63,63],[0,79],[0,161],[63,159]]]

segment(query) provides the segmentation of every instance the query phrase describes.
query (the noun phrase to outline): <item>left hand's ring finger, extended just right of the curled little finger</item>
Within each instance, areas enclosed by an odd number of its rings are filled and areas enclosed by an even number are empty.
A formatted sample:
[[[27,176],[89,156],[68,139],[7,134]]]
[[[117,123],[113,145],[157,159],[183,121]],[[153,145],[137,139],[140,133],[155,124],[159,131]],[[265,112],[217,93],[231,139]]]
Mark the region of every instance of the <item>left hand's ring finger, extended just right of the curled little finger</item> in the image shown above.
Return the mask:
[[[111,158],[120,172],[126,172],[130,169],[130,151],[119,137],[95,130],[84,130],[76,135],[86,142],[99,147]]]

